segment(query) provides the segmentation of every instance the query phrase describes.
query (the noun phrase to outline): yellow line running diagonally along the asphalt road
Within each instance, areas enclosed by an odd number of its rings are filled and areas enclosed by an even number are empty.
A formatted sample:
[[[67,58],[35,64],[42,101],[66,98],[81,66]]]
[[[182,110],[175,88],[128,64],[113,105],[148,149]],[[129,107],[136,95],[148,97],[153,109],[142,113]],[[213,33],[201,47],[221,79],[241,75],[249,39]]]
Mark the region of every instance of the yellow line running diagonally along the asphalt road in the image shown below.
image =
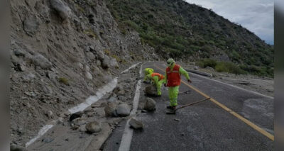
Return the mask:
[[[160,67],[154,65],[155,67],[157,67],[158,69],[162,70],[163,72],[164,69],[161,69]],[[190,87],[190,89],[193,89],[195,91],[197,91],[197,93],[201,94],[202,96],[209,98],[210,96],[208,96],[207,94],[204,94],[202,91],[200,91],[199,89],[196,89],[195,86],[191,86],[190,84],[187,84],[187,82],[182,81],[183,84],[185,84],[186,86]],[[257,130],[259,133],[265,135],[267,138],[271,139],[274,141],[274,135],[272,135],[271,133],[266,132],[266,130],[263,130],[262,128],[258,127],[258,125],[252,123],[251,121],[247,120],[246,118],[244,118],[243,116],[239,115],[238,113],[232,111],[230,108],[224,106],[223,104],[219,103],[219,101],[216,101],[215,99],[213,99],[212,97],[210,97],[209,99],[210,101],[212,101],[214,104],[217,104],[217,106],[223,108],[225,111],[228,111],[229,113],[231,113],[233,116],[235,116],[236,118],[239,118],[241,121],[243,121],[244,123],[246,123],[247,125],[251,126],[251,128]]]

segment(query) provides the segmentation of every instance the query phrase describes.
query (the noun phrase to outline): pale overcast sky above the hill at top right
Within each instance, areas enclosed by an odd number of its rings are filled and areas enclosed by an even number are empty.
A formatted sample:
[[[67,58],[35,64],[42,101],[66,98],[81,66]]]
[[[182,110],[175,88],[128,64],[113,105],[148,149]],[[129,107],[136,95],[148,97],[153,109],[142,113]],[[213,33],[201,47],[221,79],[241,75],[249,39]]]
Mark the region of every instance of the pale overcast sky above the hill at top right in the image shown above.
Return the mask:
[[[251,30],[266,43],[274,43],[273,0],[185,0],[201,5]]]

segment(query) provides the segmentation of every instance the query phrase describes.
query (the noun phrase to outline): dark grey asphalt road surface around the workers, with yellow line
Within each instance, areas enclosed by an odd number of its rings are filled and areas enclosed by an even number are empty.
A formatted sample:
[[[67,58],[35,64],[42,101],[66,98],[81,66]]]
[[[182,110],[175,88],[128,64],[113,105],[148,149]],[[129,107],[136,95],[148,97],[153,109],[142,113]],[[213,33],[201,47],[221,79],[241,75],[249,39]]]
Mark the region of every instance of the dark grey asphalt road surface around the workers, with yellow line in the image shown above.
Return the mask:
[[[145,67],[164,74],[162,63],[146,63]],[[162,96],[153,98],[156,111],[137,116],[145,128],[133,131],[130,150],[273,150],[273,99],[195,74],[190,77],[191,88],[184,83],[180,86],[180,92],[189,90],[179,95],[180,105],[205,96],[213,99],[168,115],[168,91],[163,88]],[[144,98],[142,92],[140,101]],[[119,150],[126,122],[121,125],[104,144],[104,150]]]

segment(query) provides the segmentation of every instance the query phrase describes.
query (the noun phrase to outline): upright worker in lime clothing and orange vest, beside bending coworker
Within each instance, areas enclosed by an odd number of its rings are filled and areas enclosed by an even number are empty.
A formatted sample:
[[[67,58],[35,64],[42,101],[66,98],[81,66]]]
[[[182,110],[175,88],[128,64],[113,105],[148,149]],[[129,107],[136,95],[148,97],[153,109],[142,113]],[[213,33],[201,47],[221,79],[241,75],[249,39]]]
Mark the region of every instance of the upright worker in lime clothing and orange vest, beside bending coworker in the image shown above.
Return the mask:
[[[170,96],[170,108],[175,110],[175,107],[178,106],[178,89],[180,88],[180,75],[184,75],[188,83],[191,83],[190,76],[188,73],[180,67],[180,65],[175,64],[175,60],[172,58],[167,61],[168,67],[165,69],[165,86],[168,86],[168,93]]]

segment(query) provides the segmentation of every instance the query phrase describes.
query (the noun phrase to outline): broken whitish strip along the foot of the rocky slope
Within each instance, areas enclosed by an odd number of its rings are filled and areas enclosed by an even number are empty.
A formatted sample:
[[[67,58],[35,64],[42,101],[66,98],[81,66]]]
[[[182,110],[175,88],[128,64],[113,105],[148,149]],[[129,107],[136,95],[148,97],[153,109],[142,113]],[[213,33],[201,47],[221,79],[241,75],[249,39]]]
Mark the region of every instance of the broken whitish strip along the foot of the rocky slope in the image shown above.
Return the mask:
[[[84,101],[83,103],[81,103],[77,106],[70,108],[68,111],[70,113],[76,113],[77,111],[84,111],[85,108],[87,108],[87,107],[91,106],[92,104],[94,104],[95,102],[97,102],[99,99],[102,98],[102,96],[104,96],[105,94],[114,90],[114,88],[116,87],[117,81],[118,81],[118,78],[115,77],[111,82],[102,86],[102,88],[98,89],[95,96],[89,96],[89,98],[87,98],[86,101]],[[40,129],[40,131],[38,132],[38,135],[35,136],[35,138],[26,142],[26,147],[28,147],[33,142],[35,142],[35,140],[38,140],[38,138],[42,137],[46,132],[48,132],[48,130],[50,130],[50,128],[53,128],[55,123],[56,123],[56,121],[52,121],[51,123],[43,126],[43,128]]]

